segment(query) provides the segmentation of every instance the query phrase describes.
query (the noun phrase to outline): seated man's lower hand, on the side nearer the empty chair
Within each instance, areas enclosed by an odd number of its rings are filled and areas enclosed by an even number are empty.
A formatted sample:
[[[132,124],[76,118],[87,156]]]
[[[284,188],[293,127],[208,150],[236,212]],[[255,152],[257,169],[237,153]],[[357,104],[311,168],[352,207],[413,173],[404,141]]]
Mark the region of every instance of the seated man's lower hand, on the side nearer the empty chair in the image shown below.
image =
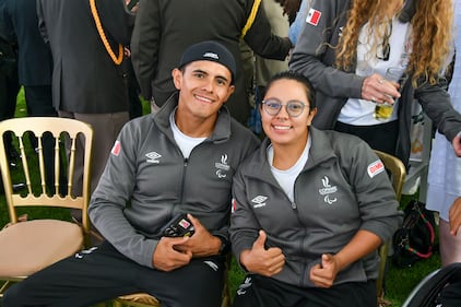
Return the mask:
[[[189,239],[189,237],[162,237],[152,257],[154,268],[159,271],[169,272],[188,264],[190,259],[192,259],[192,252],[187,250],[179,251],[176,246],[185,244]]]

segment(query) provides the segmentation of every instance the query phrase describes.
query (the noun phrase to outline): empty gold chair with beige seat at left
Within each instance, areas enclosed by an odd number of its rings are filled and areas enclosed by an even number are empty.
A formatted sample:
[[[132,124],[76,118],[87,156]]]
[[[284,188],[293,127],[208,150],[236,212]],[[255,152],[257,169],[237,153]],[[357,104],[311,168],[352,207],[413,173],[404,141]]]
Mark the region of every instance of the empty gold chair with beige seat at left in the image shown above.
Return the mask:
[[[4,133],[8,131],[14,134],[13,140],[17,141],[21,152],[21,163],[17,164],[14,172],[10,170],[4,149]],[[29,145],[31,133],[34,133],[37,140],[36,149],[35,145]],[[45,179],[44,135],[47,140],[46,146],[50,149],[51,156],[54,156],[55,182],[48,182],[48,187]],[[10,223],[0,231],[0,281],[2,281],[0,297],[2,297],[11,283],[20,282],[27,275],[75,253],[88,243],[87,204],[90,201],[93,130],[88,125],[74,119],[13,118],[0,122],[0,169],[10,216]],[[60,146],[63,140],[70,145],[68,158]],[[78,142],[83,143],[83,149],[81,145],[76,145]],[[48,144],[51,145],[48,146]],[[74,189],[74,165],[78,162],[75,153],[80,150],[84,151],[83,188],[75,193],[72,191]],[[63,175],[64,173],[66,175]],[[21,191],[12,189],[12,177],[15,178],[15,176],[23,176],[26,189]],[[62,180],[62,177],[67,177],[67,180]],[[60,181],[64,187],[60,186]],[[82,226],[63,221],[67,219],[66,210],[54,213],[56,210],[51,208],[81,210]],[[40,217],[21,222],[17,210],[20,212],[40,210],[37,213]],[[28,214],[31,215],[31,213]],[[49,215],[52,217],[43,219]],[[57,216],[63,217],[58,220]]]

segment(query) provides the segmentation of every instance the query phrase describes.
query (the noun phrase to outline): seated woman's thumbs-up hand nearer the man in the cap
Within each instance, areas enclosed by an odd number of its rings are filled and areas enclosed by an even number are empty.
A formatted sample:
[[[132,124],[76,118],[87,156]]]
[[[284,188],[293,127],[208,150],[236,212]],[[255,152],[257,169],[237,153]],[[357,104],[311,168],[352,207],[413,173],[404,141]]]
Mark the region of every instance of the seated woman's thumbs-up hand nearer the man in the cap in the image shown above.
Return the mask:
[[[279,247],[265,249],[265,233],[259,231],[259,237],[253,243],[252,248],[240,253],[240,263],[251,273],[270,278],[282,271],[285,264],[285,256]]]

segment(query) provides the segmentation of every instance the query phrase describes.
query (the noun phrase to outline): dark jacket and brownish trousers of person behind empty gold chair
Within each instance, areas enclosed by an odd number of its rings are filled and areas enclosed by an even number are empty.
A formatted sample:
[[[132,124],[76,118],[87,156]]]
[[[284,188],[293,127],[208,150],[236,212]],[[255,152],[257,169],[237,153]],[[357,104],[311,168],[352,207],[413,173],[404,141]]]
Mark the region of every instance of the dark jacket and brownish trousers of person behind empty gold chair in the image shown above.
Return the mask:
[[[97,0],[96,8],[118,55],[118,43],[128,46],[130,42],[125,2]],[[116,64],[105,49],[88,0],[37,0],[37,14],[39,31],[52,52],[54,105],[59,116],[88,122],[95,131],[93,190],[118,132],[128,121],[125,66]]]

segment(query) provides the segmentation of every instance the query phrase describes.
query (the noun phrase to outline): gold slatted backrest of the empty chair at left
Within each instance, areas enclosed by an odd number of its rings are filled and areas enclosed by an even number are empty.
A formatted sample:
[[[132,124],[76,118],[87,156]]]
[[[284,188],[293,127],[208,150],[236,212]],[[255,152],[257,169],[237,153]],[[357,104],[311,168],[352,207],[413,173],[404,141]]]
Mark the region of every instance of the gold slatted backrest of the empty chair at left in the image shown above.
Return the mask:
[[[9,167],[4,144],[5,133],[14,134],[13,142],[17,142],[21,154],[21,163],[14,172]],[[82,210],[83,229],[90,228],[87,204],[93,130],[87,123],[59,117],[13,118],[0,122],[0,169],[11,223],[17,222],[19,206],[45,205]],[[68,150],[64,150],[63,144]],[[47,156],[44,155],[45,147],[46,152],[49,152]],[[83,161],[76,158],[78,153],[82,154],[80,156],[83,156]],[[46,160],[48,162],[51,160],[52,170],[45,169]],[[75,163],[83,163],[81,191],[73,191]],[[47,172],[54,174],[54,182],[46,182]],[[17,176],[21,176],[21,180],[25,180],[26,189],[13,190],[12,178],[17,180]]]

